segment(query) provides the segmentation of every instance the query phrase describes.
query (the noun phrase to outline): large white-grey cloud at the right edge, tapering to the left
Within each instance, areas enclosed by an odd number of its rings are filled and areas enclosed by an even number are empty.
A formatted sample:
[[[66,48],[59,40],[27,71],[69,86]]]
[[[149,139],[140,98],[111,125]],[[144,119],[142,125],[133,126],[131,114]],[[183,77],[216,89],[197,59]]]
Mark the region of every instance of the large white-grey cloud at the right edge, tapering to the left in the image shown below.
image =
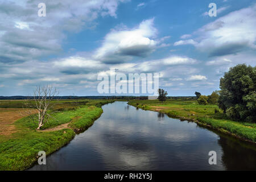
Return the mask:
[[[194,33],[195,39],[180,40],[175,46],[193,44],[209,56],[232,55],[246,49],[255,50],[255,30],[256,5],[252,5],[206,24]]]

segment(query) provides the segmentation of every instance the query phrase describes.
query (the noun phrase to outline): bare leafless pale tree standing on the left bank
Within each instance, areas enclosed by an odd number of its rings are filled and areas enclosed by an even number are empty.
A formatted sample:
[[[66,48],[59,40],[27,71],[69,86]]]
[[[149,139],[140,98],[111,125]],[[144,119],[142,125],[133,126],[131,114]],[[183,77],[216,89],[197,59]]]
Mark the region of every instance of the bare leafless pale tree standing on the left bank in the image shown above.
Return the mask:
[[[55,113],[52,110],[54,105],[52,100],[58,94],[59,91],[51,85],[36,86],[34,96],[24,102],[25,114],[29,115],[34,122],[38,122],[37,130],[40,130],[49,121],[49,118],[56,119],[52,117],[52,114]],[[37,114],[35,114],[35,110]]]

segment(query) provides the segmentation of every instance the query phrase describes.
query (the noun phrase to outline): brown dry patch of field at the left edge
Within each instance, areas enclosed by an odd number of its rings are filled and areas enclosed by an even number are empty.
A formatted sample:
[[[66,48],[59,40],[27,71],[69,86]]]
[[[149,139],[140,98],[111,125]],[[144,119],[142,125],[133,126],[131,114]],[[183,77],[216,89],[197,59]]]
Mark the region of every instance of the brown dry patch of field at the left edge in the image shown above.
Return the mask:
[[[17,131],[14,122],[26,115],[20,108],[0,108],[0,135],[10,135]]]

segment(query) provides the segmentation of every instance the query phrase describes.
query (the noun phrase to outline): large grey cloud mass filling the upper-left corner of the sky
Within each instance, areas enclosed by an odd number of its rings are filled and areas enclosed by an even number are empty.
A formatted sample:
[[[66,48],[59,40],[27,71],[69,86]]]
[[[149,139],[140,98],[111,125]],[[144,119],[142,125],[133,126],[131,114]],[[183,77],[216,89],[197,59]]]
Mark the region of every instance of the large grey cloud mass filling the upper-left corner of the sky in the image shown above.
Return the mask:
[[[98,16],[116,17],[125,0],[46,0],[46,17],[38,16],[42,1],[0,2],[0,62],[17,63],[61,51],[63,31],[80,31]]]

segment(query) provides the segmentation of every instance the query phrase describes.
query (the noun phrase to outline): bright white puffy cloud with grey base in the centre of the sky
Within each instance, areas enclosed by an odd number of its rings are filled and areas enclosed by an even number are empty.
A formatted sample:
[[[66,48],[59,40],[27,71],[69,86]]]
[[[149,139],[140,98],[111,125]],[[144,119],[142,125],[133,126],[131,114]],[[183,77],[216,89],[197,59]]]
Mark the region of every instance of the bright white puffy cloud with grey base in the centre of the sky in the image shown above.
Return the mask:
[[[131,60],[133,56],[145,57],[154,51],[157,44],[154,38],[156,28],[154,19],[143,20],[131,30],[112,30],[105,36],[104,42],[97,49],[94,58],[104,63],[116,64]]]

